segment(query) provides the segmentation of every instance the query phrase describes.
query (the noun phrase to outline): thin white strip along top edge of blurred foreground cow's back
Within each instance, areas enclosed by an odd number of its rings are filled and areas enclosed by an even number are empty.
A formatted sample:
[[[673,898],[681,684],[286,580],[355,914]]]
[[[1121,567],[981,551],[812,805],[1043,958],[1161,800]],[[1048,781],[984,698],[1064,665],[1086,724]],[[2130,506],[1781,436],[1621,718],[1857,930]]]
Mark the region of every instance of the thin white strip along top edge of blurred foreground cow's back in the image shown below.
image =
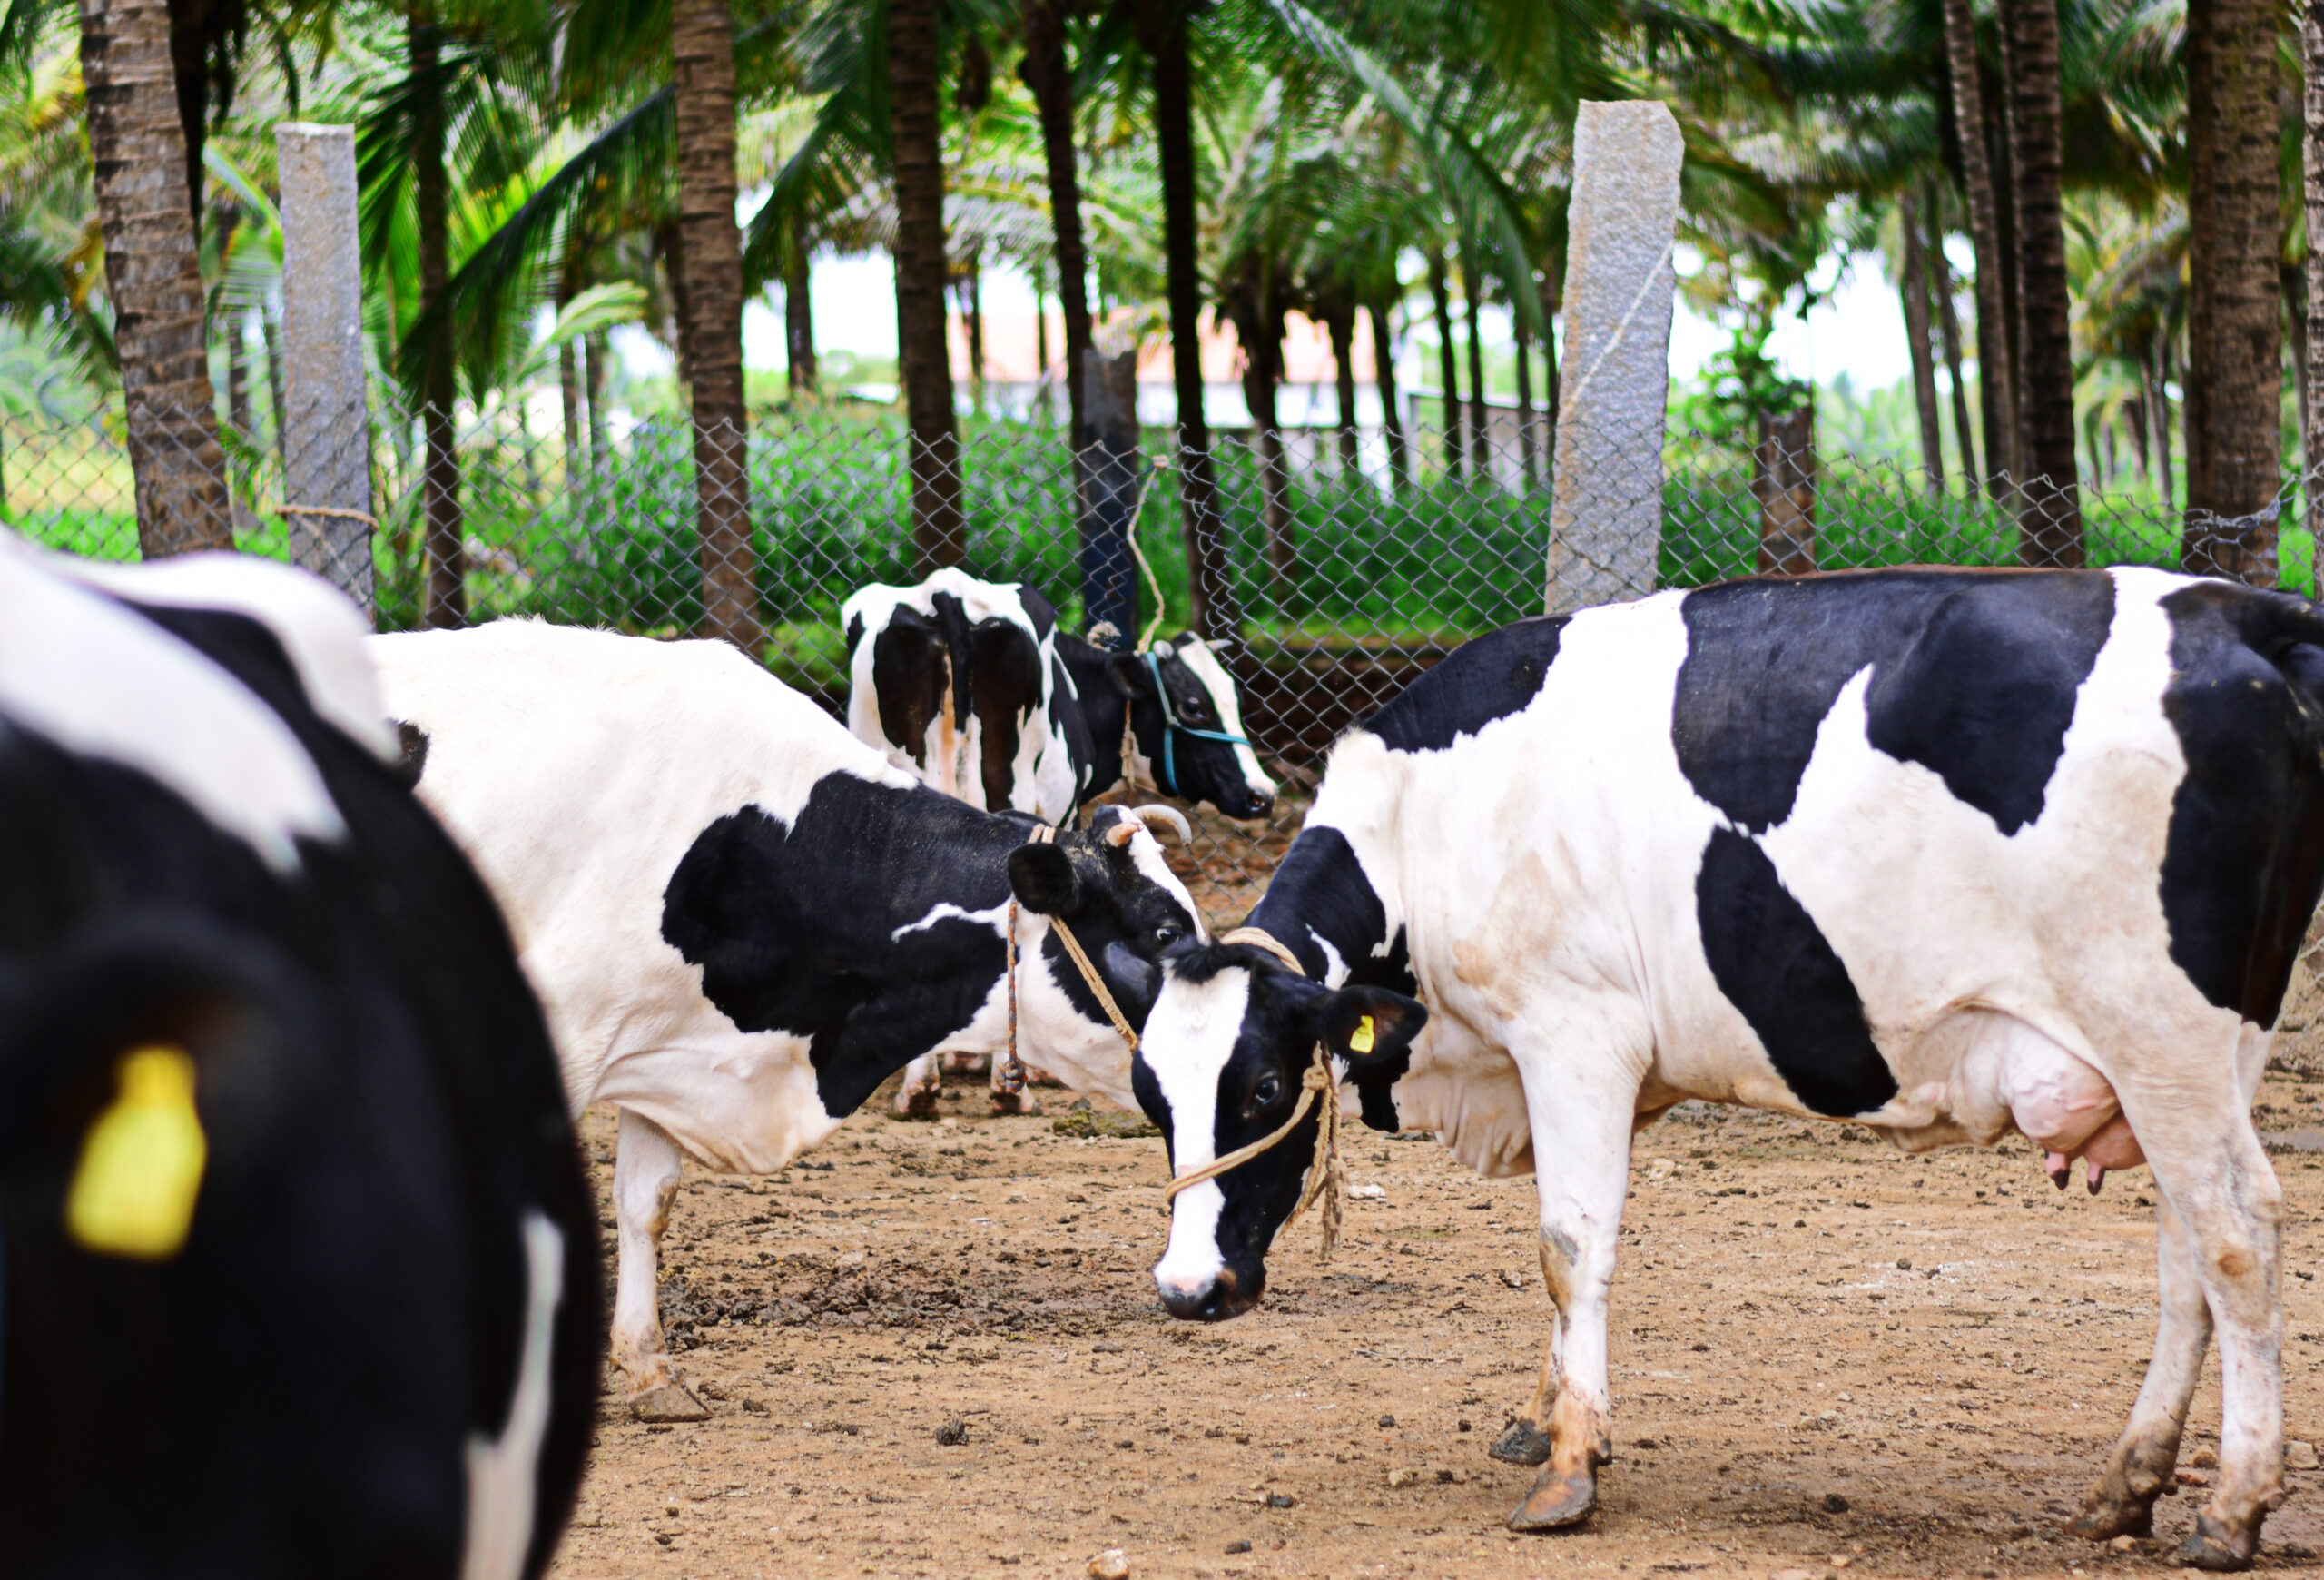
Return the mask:
[[[379,676],[365,658],[372,634],[363,611],[335,586],[277,560],[244,553],[188,553],[142,565],[49,558],[86,586],[163,609],[223,609],[258,620],[284,644],[300,690],[325,720],[383,762],[397,757],[395,732],[379,706]]]

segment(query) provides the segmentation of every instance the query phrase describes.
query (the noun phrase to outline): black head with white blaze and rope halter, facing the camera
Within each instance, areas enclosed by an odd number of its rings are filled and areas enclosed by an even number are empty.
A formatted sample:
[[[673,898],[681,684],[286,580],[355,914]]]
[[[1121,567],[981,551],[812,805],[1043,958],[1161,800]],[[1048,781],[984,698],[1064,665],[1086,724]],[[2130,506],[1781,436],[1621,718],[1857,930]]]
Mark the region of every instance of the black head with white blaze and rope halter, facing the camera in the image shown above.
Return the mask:
[[[1162,962],[1146,1018],[1139,1106],[1162,1127],[1171,1171],[1260,1141],[1290,1120],[1315,1043],[1343,1071],[1397,1060],[1427,1008],[1387,988],[1322,988],[1248,943],[1190,943]],[[1339,1101],[1339,1092],[1329,1094]],[[1267,1248],[1299,1204],[1320,1115],[1215,1180],[1178,1192],[1155,1285],[1174,1317],[1218,1322],[1257,1306]]]

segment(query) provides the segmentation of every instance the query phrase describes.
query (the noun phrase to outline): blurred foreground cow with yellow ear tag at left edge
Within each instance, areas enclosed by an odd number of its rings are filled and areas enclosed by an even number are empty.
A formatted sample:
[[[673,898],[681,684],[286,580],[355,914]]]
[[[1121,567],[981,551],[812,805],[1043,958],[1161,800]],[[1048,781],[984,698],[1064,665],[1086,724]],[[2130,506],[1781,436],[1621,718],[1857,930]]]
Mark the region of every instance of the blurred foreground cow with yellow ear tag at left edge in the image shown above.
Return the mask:
[[[572,1508],[595,1211],[363,637],[0,534],[9,1575],[514,1580]]]

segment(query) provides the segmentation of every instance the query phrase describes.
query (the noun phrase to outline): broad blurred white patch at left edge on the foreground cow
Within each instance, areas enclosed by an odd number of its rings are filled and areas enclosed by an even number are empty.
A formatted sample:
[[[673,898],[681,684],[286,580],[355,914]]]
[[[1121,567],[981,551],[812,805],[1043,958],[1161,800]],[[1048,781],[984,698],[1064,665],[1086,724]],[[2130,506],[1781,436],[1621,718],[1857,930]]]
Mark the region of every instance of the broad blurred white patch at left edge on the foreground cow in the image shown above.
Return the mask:
[[[232,674],[0,537],[0,713],[153,776],[277,871],[346,823],[314,760]]]

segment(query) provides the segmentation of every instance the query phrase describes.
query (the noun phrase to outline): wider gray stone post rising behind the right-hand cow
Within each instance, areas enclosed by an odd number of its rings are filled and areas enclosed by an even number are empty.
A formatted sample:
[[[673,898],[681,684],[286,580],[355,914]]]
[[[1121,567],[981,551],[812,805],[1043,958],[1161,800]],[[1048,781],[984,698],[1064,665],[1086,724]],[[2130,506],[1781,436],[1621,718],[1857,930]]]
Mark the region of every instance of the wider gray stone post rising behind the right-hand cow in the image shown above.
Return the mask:
[[[1683,156],[1657,100],[1585,102],[1573,123],[1550,613],[1655,590]]]

